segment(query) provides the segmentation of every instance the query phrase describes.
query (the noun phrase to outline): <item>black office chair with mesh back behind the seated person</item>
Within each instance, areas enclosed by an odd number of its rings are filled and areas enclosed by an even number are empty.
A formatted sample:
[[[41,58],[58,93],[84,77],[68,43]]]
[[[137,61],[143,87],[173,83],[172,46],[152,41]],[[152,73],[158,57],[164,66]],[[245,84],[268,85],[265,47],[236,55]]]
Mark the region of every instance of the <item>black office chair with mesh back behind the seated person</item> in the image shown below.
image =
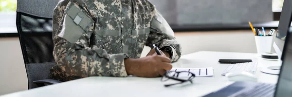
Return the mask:
[[[58,0],[18,0],[16,25],[28,89],[56,84],[48,79],[53,58],[52,16]]]

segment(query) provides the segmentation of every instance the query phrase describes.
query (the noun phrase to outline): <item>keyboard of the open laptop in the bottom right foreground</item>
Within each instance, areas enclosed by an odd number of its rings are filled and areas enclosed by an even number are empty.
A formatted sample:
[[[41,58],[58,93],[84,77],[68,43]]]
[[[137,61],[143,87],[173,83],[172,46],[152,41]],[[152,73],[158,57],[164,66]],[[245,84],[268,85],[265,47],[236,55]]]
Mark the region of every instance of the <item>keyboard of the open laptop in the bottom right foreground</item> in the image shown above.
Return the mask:
[[[274,97],[275,88],[275,84],[257,83],[255,87],[240,91],[230,97]]]

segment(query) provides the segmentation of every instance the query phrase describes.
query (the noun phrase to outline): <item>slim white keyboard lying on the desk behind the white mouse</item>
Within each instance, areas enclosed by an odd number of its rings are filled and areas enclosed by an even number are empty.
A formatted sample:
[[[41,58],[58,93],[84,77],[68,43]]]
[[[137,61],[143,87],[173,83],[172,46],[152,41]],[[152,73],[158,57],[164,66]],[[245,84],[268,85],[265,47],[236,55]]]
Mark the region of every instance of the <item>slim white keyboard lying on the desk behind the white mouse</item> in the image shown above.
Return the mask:
[[[251,74],[256,73],[257,62],[245,62],[245,63],[236,63],[230,64],[226,69],[223,71],[221,76],[225,76],[225,74],[230,72],[249,72]]]

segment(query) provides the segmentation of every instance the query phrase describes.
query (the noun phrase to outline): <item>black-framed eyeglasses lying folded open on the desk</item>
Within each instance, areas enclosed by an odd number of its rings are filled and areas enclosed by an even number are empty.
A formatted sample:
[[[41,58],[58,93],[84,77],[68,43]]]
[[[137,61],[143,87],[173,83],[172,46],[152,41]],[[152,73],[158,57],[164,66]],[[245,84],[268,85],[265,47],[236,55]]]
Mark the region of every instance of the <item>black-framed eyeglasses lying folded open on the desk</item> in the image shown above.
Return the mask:
[[[182,77],[183,76],[183,77]],[[179,78],[182,77],[182,78]],[[173,80],[177,80],[180,81],[179,83],[174,83],[174,84],[165,84],[165,87],[168,86],[172,86],[172,85],[176,85],[176,84],[181,84],[184,82],[191,82],[193,83],[192,79],[195,78],[195,74],[191,73],[191,72],[187,72],[187,71],[169,71],[167,73],[164,74],[164,76],[161,78],[161,81],[166,81],[168,79],[173,79]]]

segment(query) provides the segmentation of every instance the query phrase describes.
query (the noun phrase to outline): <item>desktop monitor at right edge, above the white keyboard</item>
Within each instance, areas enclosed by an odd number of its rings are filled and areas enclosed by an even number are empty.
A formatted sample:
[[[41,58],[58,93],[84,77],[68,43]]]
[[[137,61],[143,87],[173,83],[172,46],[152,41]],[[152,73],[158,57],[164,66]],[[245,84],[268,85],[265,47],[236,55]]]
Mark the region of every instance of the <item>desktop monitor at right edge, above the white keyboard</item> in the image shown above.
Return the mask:
[[[278,58],[282,59],[282,51],[284,47],[284,42],[286,39],[288,27],[291,25],[292,19],[292,0],[284,0],[283,8],[280,16],[280,21],[278,25],[278,30],[276,32],[276,37],[274,39],[273,47],[276,51]]]

